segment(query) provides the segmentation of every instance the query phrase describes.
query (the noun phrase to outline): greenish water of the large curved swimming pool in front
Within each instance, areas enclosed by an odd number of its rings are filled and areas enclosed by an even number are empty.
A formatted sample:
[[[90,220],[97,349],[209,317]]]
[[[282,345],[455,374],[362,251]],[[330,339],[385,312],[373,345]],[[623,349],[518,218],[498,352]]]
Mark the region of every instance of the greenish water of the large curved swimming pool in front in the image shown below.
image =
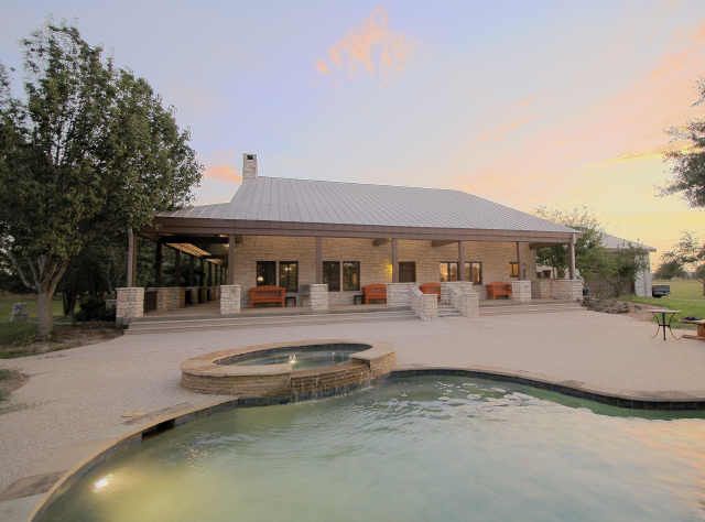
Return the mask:
[[[705,520],[705,420],[636,414],[490,380],[392,379],[178,426],[109,458],[43,520]]]

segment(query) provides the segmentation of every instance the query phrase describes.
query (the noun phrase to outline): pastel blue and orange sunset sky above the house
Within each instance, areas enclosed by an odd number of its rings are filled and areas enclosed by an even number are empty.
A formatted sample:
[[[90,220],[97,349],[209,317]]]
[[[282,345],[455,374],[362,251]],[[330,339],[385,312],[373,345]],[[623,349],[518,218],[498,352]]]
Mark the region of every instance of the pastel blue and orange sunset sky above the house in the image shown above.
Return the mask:
[[[0,0],[0,62],[66,20],[145,77],[229,200],[241,155],[278,177],[586,206],[660,253],[705,211],[662,196],[669,128],[705,117],[705,2]]]

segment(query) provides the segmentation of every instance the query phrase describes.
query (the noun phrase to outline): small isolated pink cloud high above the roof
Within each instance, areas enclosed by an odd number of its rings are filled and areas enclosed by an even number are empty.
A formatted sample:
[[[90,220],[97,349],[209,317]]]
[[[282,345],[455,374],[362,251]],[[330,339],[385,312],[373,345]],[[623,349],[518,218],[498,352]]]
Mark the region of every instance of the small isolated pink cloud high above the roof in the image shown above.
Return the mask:
[[[343,69],[355,74],[384,73],[403,68],[412,51],[411,41],[402,33],[389,29],[389,17],[383,8],[372,10],[362,24],[328,48],[327,57],[316,62],[316,70],[328,74]]]

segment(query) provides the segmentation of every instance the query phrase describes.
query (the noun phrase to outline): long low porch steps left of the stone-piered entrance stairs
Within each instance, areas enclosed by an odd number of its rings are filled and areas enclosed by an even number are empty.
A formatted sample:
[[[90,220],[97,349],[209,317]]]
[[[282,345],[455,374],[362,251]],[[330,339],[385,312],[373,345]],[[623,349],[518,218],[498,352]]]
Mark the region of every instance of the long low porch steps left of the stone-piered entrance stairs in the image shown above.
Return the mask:
[[[202,329],[248,328],[258,326],[299,326],[324,325],[335,323],[366,323],[370,320],[416,320],[416,315],[410,308],[352,312],[352,313],[318,313],[294,315],[260,315],[232,317],[199,317],[199,318],[144,318],[133,322],[124,331],[134,334],[162,334],[172,331],[197,331]]]

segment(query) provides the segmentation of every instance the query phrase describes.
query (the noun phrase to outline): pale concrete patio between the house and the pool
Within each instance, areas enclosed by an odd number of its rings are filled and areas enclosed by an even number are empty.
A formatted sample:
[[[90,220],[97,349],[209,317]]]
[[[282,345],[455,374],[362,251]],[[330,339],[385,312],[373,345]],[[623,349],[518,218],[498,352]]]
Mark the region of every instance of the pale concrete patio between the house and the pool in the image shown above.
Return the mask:
[[[19,479],[64,471],[156,416],[221,398],[180,387],[180,363],[240,345],[343,338],[388,341],[399,367],[488,367],[578,381],[636,395],[705,398],[705,344],[664,342],[654,325],[585,311],[123,336],[23,359],[30,376],[0,414],[0,494]],[[41,494],[0,501],[0,520],[23,520]]]

